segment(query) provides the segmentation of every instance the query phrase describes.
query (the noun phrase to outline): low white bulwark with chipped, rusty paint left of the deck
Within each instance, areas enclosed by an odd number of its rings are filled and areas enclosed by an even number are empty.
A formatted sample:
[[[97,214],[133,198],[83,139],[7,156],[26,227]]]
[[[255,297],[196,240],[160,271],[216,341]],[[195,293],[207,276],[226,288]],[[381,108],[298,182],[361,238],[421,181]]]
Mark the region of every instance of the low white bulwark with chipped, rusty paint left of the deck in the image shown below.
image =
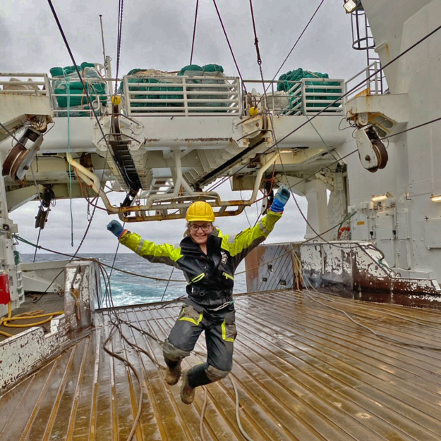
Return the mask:
[[[50,333],[34,327],[0,343],[0,394],[90,333],[99,286],[95,263],[66,266],[65,313],[52,319]],[[71,290],[78,292],[76,297],[69,294]]]

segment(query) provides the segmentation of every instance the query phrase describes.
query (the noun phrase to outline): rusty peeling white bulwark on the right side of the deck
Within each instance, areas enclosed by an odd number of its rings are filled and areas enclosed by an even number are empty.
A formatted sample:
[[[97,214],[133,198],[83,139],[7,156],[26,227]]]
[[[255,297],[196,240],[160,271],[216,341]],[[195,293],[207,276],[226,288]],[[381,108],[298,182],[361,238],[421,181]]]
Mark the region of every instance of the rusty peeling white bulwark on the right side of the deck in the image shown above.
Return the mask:
[[[250,292],[302,286],[339,295],[408,306],[441,305],[434,279],[394,273],[370,242],[307,242],[261,245],[246,257]],[[289,251],[291,249],[291,252]],[[301,268],[299,268],[301,256]],[[284,285],[286,283],[286,285]],[[430,300],[428,299],[428,295]]]

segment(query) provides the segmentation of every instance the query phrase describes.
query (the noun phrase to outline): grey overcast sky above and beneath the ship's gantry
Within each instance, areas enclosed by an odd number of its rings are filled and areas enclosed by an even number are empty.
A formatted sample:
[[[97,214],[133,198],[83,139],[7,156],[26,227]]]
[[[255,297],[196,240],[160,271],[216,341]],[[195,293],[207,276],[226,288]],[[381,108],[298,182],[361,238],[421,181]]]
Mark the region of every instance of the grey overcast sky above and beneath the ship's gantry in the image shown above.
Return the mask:
[[[53,1],[78,64],[103,61],[99,27],[99,14],[102,14],[106,53],[112,58],[112,73],[116,74],[118,3],[117,0]],[[266,80],[277,73],[319,4],[320,0],[253,0]],[[124,1],[120,76],[133,68],[172,71],[186,66],[191,56],[195,5],[195,0]],[[49,73],[54,66],[72,64],[47,1],[0,0],[0,6],[1,72]],[[242,77],[260,79],[250,2],[217,0],[217,6]],[[325,0],[279,75],[301,67],[334,78],[351,77],[366,66],[366,54],[351,49],[351,38],[351,21],[344,13],[342,0]],[[212,0],[199,1],[193,63],[201,66],[217,63],[224,67],[226,75],[237,75]],[[222,194],[227,192],[227,187],[222,190]],[[123,196],[117,199],[122,201]],[[305,201],[302,198],[299,201],[306,213]],[[40,237],[42,246],[65,252],[78,247],[87,226],[87,207],[84,201],[73,201],[72,206],[74,247],[71,247],[69,201],[57,201],[52,208]],[[10,213],[19,225],[20,235],[31,242],[37,241],[34,228],[37,209],[37,202],[32,202]],[[248,226],[248,221],[254,225],[258,210],[260,206],[247,209],[248,220],[242,214],[220,218],[217,225],[225,232],[238,232]],[[116,216],[109,217],[103,211],[95,213],[80,252],[114,252],[116,240],[106,230],[111,218]],[[177,244],[184,225],[185,221],[163,221],[132,224],[129,228],[147,239]],[[267,242],[302,240],[305,231],[306,225],[291,199],[284,218]],[[23,253],[33,252],[23,245],[18,249]]]

